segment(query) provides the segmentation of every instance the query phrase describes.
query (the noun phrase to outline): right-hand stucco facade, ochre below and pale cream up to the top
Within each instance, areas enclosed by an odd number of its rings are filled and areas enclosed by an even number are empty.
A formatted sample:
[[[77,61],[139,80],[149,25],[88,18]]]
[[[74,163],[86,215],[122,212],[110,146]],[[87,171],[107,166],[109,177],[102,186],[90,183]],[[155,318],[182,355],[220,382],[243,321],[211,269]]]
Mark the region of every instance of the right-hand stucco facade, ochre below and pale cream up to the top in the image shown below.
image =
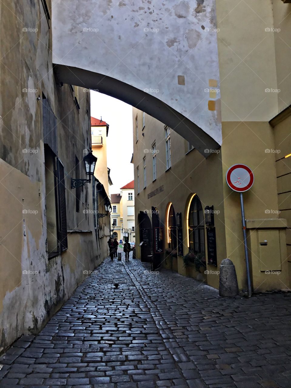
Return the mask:
[[[223,258],[232,260],[240,290],[246,289],[240,199],[225,182],[226,171],[236,163],[248,165],[255,174],[253,187],[243,195],[253,291],[289,289],[290,7],[281,0],[235,1],[231,9],[228,2],[216,2],[220,81],[212,80],[208,91],[210,100],[215,100],[219,91],[220,98],[213,104],[221,112],[222,145],[220,149],[211,149],[205,143],[208,158],[200,157],[196,148],[189,151],[191,147],[177,135],[174,124],[170,130],[171,167],[168,168],[164,126],[168,123],[145,114],[144,125],[142,112],[133,108],[135,217],[141,217],[144,208],[150,211],[156,208],[166,230],[172,204],[175,213],[182,215],[185,255],[189,251],[187,212],[192,196],[199,197],[203,210],[213,205],[217,264],[219,267]],[[156,180],[152,176],[154,144]],[[151,226],[152,213],[149,218]],[[204,227],[207,263],[206,230]],[[166,230],[165,248],[167,233]],[[268,248],[263,251],[263,246]],[[140,254],[137,243],[137,256]],[[262,264],[264,261],[268,268]],[[193,268],[183,264],[181,256],[173,258],[173,268],[197,276]],[[207,263],[207,272],[203,270],[205,280],[216,288],[218,267]],[[199,278],[202,279],[201,274]]]

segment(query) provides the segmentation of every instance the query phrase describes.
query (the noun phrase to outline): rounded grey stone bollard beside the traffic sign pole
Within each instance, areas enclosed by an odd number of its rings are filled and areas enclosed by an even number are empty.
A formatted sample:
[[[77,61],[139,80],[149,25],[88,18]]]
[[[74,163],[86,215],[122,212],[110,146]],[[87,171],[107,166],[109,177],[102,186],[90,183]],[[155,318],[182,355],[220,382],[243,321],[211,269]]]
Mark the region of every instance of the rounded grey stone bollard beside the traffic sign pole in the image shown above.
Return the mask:
[[[236,268],[232,261],[223,259],[219,271],[219,295],[228,298],[238,295]]]

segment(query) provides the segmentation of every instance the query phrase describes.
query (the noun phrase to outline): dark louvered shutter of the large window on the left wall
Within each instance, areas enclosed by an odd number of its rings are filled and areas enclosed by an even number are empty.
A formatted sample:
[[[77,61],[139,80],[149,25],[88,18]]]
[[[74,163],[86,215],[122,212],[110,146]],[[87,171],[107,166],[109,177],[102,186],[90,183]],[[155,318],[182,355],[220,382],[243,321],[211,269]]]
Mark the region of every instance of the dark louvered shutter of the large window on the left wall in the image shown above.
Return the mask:
[[[67,209],[64,166],[57,158],[57,193],[59,202],[59,242],[61,253],[68,249]]]

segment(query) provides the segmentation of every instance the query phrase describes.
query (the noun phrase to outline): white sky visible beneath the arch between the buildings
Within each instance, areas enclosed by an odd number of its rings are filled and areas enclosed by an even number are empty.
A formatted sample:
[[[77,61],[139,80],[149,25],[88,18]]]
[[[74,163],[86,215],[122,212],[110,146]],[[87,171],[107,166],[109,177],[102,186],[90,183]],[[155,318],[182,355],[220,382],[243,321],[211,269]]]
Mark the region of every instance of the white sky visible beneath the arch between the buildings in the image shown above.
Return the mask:
[[[133,180],[132,106],[91,90],[91,116],[109,124],[107,137],[107,167],[113,185],[109,194],[119,193],[120,187]],[[97,161],[98,163],[98,161]]]

